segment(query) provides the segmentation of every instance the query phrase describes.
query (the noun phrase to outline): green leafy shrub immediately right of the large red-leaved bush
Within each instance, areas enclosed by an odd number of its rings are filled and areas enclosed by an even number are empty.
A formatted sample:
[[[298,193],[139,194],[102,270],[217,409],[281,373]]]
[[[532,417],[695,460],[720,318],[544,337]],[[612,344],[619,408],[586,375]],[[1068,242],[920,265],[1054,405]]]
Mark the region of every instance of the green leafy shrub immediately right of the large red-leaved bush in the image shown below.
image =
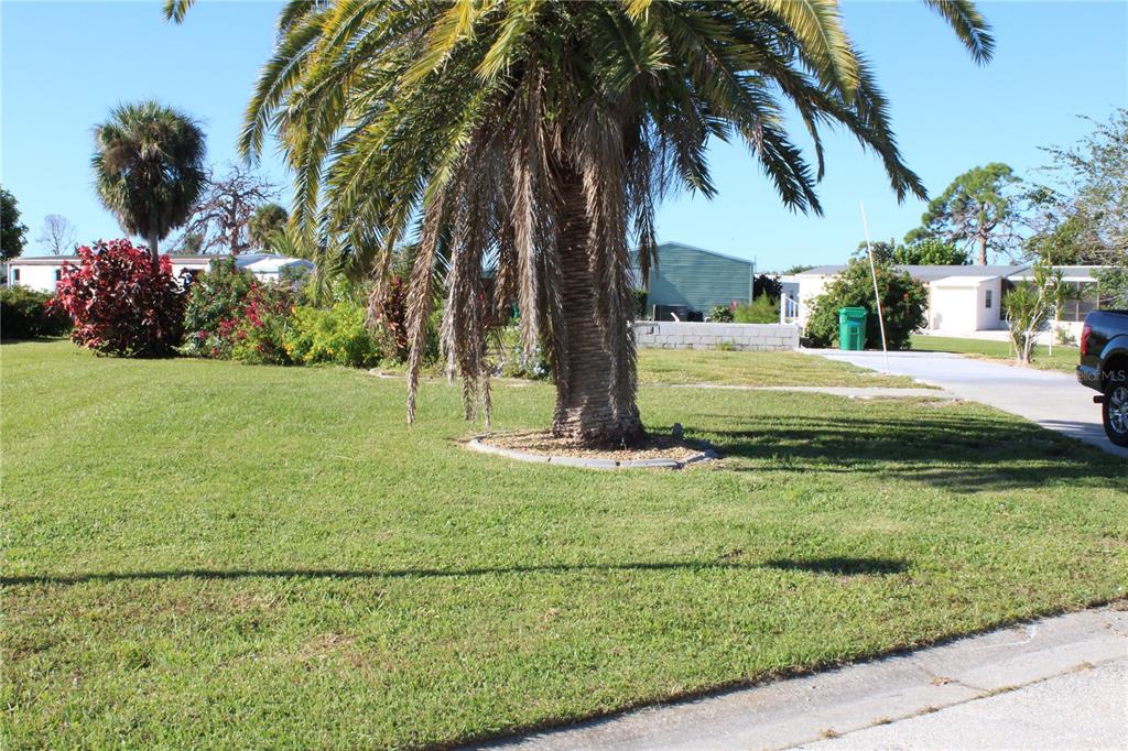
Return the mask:
[[[255,277],[236,267],[233,258],[214,260],[208,273],[196,276],[184,316],[185,354],[231,357],[240,311],[254,283]]]

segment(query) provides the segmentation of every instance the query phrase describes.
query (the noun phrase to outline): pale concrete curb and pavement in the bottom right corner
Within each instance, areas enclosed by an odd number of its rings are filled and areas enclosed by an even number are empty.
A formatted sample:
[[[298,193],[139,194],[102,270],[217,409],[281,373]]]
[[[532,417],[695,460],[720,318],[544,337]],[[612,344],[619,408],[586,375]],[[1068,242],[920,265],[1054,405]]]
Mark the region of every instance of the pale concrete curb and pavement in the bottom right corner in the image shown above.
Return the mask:
[[[1102,608],[490,748],[1123,749],[1126,678],[1128,610]]]

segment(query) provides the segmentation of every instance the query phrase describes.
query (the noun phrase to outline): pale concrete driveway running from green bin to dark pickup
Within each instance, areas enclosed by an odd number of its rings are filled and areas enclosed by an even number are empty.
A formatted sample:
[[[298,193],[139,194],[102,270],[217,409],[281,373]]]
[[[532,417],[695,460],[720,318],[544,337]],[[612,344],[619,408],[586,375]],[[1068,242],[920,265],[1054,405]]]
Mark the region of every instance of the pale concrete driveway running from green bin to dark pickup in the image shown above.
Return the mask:
[[[885,357],[880,352],[804,352],[861,368],[885,370]],[[890,352],[889,372],[938,386],[961,399],[1010,412],[1128,458],[1128,449],[1113,445],[1104,435],[1101,407],[1093,404],[1096,391],[1081,386],[1073,376],[944,352]]]

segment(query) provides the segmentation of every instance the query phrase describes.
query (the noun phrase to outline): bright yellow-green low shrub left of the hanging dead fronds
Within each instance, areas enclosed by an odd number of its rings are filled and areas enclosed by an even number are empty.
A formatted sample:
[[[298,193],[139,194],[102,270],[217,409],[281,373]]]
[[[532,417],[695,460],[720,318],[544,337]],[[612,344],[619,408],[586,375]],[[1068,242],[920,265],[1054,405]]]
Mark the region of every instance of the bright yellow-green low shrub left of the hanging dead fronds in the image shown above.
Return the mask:
[[[371,368],[380,362],[380,345],[364,325],[364,309],[341,300],[329,309],[294,309],[287,353],[296,363],[336,363]]]

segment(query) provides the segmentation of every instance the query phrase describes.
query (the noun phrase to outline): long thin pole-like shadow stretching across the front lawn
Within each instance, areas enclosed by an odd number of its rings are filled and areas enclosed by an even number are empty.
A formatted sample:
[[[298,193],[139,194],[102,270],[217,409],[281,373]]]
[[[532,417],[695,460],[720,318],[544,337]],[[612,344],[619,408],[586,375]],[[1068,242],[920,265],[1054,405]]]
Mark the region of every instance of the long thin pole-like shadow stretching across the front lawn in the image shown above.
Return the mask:
[[[183,571],[138,571],[106,572],[100,574],[64,574],[64,575],[28,575],[0,576],[2,586],[21,586],[36,584],[85,584],[88,582],[123,582],[123,581],[165,581],[178,578],[200,580],[239,580],[239,578],[446,578],[457,576],[509,576],[520,574],[573,574],[583,572],[647,572],[647,571],[761,571],[775,568],[787,572],[804,572],[817,575],[835,576],[884,576],[899,574],[908,569],[904,560],[891,558],[811,558],[779,559],[760,564],[740,564],[724,560],[685,560],[667,563],[623,563],[623,564],[545,564],[535,566],[499,566],[482,568],[394,568],[379,569],[335,569],[335,568],[291,568],[291,569],[220,569],[220,568],[186,568]]]

